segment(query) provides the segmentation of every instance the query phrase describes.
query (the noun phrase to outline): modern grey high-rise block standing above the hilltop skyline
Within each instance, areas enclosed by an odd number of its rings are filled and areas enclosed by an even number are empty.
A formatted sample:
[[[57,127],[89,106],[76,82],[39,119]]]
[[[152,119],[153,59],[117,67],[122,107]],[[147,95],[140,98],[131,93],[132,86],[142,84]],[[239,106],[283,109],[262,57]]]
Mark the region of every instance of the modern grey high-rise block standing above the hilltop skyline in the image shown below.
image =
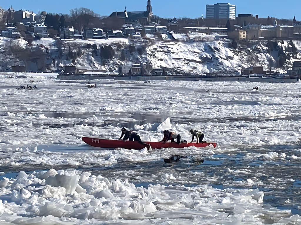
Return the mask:
[[[206,19],[235,19],[236,5],[217,3],[206,5]]]

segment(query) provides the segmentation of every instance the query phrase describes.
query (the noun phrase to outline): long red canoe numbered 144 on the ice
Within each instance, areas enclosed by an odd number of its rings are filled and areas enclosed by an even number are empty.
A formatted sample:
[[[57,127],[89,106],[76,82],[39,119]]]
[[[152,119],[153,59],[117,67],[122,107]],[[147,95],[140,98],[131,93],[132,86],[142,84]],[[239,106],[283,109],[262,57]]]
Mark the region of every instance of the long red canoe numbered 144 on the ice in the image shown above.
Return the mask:
[[[116,149],[116,148],[123,148],[123,149],[143,149],[145,146],[140,144],[137,141],[121,141],[121,140],[108,140],[108,139],[100,139],[98,137],[82,137],[82,140],[87,143],[88,145],[98,147],[98,148],[108,148],[108,149]],[[195,146],[197,148],[203,147],[216,147],[216,143],[183,143],[178,145],[177,143],[172,142],[148,142],[145,143],[150,144],[152,149],[161,149],[161,148],[185,148]]]

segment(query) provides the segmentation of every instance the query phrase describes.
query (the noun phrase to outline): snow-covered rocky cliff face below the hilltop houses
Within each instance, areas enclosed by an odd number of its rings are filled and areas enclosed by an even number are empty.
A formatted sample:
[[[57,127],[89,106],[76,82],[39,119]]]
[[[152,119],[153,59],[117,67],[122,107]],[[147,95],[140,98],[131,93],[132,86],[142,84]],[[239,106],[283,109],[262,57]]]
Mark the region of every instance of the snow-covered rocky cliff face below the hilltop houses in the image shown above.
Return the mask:
[[[264,70],[278,69],[285,72],[286,66],[301,58],[300,41],[212,41],[210,35],[188,36],[177,35],[176,40],[166,41],[149,38],[148,40],[107,39],[107,40],[73,40],[66,41],[41,39],[33,41],[28,46],[26,41],[9,38],[0,39],[0,71],[10,71],[11,65],[18,62],[18,56],[11,51],[11,46],[26,47],[35,53],[39,45],[46,57],[45,63],[33,57],[38,71],[46,68],[52,71],[61,70],[64,65],[76,64],[79,70],[111,70],[116,71],[119,65],[144,63],[151,61],[153,68],[171,68],[177,72],[194,72],[196,74],[216,73],[219,75],[234,75],[244,68],[253,65],[263,65]],[[39,52],[41,53],[41,51]],[[17,59],[16,59],[17,58]],[[32,67],[32,66],[31,66]],[[28,71],[32,69],[28,69]]]

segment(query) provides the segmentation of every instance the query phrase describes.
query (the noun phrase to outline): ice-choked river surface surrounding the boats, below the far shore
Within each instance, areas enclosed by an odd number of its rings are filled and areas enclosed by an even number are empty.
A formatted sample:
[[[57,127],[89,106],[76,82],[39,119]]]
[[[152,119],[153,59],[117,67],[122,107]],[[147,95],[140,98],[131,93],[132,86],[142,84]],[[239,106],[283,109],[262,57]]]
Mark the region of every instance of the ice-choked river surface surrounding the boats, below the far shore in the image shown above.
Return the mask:
[[[299,83],[0,82],[0,224],[301,224]],[[145,141],[195,128],[217,148],[82,142],[123,126]]]

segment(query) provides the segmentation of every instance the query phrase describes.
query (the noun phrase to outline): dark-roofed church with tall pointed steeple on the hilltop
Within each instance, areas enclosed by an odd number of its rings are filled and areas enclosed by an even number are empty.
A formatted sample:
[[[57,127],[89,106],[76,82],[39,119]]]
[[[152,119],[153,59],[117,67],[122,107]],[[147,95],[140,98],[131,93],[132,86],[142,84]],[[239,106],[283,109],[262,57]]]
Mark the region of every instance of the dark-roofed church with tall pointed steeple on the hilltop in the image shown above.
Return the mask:
[[[115,11],[110,14],[109,17],[117,17],[120,19],[125,19],[126,22],[134,22],[135,20],[141,24],[149,24],[153,17],[151,0],[147,0],[146,11],[127,11],[126,7],[124,11]]]

